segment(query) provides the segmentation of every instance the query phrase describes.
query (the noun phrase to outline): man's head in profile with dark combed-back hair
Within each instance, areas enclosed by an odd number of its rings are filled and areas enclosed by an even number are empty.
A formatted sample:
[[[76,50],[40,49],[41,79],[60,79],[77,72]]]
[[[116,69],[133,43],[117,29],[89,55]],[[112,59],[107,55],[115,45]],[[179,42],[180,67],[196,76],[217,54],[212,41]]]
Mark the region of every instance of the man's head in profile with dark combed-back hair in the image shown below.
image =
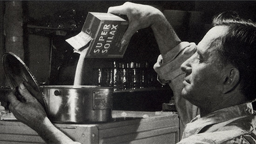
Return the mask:
[[[218,15],[195,54],[182,64],[182,96],[194,105],[217,107],[231,97],[238,103],[255,99],[256,26],[241,21],[236,13]]]

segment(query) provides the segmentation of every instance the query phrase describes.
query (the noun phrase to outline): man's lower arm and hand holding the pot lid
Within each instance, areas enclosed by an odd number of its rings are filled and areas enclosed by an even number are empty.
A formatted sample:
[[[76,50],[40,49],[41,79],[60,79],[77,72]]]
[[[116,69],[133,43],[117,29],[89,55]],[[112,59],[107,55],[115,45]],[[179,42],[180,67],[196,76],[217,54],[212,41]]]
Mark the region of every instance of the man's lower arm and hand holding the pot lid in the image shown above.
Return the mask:
[[[51,123],[43,106],[30,94],[25,85],[20,84],[19,92],[26,102],[20,102],[14,91],[8,95],[9,109],[17,119],[36,131],[47,144],[80,144],[73,142]]]

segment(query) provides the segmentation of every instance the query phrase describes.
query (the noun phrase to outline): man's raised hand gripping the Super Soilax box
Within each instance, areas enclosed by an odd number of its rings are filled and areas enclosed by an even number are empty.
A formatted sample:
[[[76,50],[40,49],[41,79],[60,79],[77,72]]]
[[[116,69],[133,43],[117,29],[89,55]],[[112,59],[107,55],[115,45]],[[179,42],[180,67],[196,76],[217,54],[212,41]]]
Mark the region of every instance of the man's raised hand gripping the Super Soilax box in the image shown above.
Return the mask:
[[[109,7],[108,13],[126,15],[128,17],[129,26],[123,35],[121,45],[127,45],[134,33],[138,30],[147,28],[164,17],[162,12],[155,7],[125,2],[121,6]]]

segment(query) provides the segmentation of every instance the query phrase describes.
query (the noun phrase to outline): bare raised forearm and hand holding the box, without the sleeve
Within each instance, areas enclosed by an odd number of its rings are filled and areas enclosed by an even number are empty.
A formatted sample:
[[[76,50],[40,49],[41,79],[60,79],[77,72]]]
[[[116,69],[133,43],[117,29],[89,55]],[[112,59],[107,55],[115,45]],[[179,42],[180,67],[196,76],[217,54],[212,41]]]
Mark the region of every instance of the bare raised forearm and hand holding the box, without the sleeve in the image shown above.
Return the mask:
[[[155,7],[126,2],[121,6],[109,7],[108,13],[128,17],[129,26],[122,38],[122,45],[127,45],[134,33],[148,26],[154,32],[163,59],[168,51],[181,42],[163,13]]]

